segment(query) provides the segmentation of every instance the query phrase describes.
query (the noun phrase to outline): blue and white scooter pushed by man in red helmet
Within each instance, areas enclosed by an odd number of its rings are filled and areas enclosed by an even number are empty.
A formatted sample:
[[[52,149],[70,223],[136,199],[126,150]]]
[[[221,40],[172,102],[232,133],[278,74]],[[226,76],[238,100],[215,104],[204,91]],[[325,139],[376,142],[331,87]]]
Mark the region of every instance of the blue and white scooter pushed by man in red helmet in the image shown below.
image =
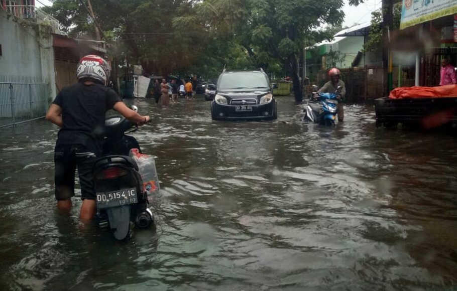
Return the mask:
[[[315,86],[317,88],[317,86]],[[315,93],[306,104],[303,121],[308,120],[322,125],[335,125],[338,114],[338,86],[334,93]]]

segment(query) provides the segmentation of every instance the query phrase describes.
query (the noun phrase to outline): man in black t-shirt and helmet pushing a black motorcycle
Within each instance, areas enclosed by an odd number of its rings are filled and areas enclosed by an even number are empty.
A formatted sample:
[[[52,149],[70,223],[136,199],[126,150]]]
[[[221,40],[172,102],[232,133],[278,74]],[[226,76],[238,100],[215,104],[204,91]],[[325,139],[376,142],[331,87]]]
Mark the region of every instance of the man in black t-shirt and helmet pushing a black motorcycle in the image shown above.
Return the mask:
[[[149,116],[128,108],[115,91],[106,87],[109,65],[102,58],[95,55],[83,57],[76,75],[79,82],[57,95],[46,119],[61,127],[54,153],[57,207],[70,211],[77,167],[83,200],[80,219],[87,223],[96,212],[92,166],[101,155],[105,112],[115,109],[139,125],[148,122]]]

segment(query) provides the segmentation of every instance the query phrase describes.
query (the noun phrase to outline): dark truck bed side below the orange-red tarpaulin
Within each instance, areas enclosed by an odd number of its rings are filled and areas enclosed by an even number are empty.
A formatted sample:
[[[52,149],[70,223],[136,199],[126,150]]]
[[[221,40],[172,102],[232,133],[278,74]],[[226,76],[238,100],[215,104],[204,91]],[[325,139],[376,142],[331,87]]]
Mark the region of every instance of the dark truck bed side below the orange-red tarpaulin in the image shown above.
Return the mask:
[[[376,125],[398,123],[425,128],[457,124],[457,97],[375,99]],[[435,126],[436,125],[436,126]]]

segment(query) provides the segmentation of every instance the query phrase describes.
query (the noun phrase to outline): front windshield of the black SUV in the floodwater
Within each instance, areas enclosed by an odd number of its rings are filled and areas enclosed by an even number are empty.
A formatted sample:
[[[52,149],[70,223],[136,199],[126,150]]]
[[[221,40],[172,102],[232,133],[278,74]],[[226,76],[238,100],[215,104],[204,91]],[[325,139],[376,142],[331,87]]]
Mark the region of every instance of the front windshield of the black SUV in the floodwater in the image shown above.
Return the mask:
[[[260,72],[235,72],[223,74],[219,90],[269,88],[268,79]]]

